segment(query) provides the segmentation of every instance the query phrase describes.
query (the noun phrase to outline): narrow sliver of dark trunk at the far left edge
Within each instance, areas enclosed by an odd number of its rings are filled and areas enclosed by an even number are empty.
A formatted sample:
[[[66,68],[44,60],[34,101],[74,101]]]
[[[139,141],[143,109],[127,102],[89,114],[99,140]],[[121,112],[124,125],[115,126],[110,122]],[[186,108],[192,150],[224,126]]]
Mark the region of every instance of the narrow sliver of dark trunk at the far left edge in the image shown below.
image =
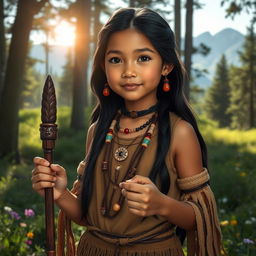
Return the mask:
[[[5,28],[4,28],[4,0],[0,0],[0,101],[3,91],[5,68]]]

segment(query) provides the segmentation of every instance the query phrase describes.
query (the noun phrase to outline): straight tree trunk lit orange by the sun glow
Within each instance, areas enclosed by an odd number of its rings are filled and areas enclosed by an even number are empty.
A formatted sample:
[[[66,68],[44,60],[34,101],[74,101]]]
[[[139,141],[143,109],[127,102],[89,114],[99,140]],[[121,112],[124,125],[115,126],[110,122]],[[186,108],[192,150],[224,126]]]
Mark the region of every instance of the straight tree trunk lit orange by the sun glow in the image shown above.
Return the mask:
[[[91,1],[76,1],[76,43],[73,80],[73,105],[71,115],[71,128],[83,129],[85,127],[85,107],[88,103],[86,90],[88,57],[90,42]]]

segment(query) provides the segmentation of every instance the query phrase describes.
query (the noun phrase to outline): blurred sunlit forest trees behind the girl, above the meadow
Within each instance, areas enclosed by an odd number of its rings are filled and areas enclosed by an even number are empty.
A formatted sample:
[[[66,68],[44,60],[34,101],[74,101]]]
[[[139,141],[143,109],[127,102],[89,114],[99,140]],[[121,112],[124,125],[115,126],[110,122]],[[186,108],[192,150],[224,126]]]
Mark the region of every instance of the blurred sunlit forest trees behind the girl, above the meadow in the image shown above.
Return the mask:
[[[114,11],[111,3],[110,0],[0,1],[1,156],[12,154],[19,161],[19,110],[40,105],[43,80],[49,72],[55,80],[59,105],[71,108],[70,127],[85,128],[85,109],[95,104],[90,91],[92,57],[103,20]],[[205,87],[198,83],[198,78],[209,71],[202,66],[199,68],[195,61],[198,57],[194,56],[206,58],[212,49],[207,41],[195,44],[192,36],[193,15],[204,5],[195,0],[122,1],[122,6],[153,8],[174,23],[177,49],[186,69],[184,92],[197,112],[217,121],[220,127],[255,128],[255,2],[226,0],[221,4],[227,16],[233,19],[241,11],[252,9],[252,22],[248,24],[247,36],[240,49],[241,64],[229,63],[229,58],[223,56],[217,63],[211,86]],[[182,20],[185,23],[183,33]],[[49,56],[56,50],[52,45],[55,28],[63,21],[75,28],[76,37],[74,45],[65,50],[62,73],[54,73]],[[30,35],[35,31],[45,38],[41,58],[31,57],[35,42],[30,41]],[[69,37],[68,32],[66,36]],[[45,74],[36,69],[42,62]]]

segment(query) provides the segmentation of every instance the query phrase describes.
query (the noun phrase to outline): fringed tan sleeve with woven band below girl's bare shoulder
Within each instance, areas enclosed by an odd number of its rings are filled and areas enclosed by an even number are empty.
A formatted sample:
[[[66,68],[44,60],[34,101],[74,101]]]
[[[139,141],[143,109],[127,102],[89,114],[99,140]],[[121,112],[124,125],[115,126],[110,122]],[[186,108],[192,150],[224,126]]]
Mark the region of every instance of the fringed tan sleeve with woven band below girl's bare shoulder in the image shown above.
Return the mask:
[[[221,255],[221,229],[213,192],[209,186],[208,170],[177,179],[181,200],[190,204],[196,216],[196,228],[187,232],[188,256]]]

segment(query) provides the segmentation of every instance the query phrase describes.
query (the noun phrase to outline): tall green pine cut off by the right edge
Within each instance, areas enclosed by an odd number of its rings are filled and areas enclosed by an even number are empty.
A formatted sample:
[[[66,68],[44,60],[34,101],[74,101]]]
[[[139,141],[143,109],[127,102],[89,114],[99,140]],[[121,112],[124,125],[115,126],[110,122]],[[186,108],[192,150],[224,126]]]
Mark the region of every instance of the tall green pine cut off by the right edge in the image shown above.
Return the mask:
[[[254,23],[248,28],[242,52],[242,67],[232,68],[231,105],[232,127],[250,129],[256,127],[256,34]]]

